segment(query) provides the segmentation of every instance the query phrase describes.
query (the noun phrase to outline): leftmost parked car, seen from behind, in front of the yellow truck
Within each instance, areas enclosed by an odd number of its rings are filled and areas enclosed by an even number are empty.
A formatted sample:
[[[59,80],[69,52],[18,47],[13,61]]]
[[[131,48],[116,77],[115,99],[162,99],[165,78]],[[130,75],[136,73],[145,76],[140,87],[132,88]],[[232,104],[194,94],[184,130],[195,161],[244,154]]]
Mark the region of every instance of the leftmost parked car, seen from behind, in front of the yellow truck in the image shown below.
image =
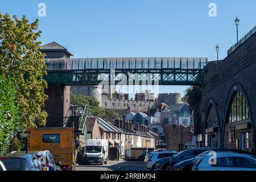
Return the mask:
[[[7,171],[42,171],[35,154],[15,152],[14,154],[0,155],[0,160]]]

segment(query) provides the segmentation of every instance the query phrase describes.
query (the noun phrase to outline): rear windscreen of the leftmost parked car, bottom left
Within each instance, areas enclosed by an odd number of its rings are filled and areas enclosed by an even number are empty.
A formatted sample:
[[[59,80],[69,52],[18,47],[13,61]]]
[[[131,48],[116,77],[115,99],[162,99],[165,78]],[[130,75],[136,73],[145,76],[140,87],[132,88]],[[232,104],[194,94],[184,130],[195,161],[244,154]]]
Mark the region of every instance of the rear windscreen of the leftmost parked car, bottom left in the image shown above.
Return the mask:
[[[28,162],[22,158],[1,159],[7,171],[28,171]]]

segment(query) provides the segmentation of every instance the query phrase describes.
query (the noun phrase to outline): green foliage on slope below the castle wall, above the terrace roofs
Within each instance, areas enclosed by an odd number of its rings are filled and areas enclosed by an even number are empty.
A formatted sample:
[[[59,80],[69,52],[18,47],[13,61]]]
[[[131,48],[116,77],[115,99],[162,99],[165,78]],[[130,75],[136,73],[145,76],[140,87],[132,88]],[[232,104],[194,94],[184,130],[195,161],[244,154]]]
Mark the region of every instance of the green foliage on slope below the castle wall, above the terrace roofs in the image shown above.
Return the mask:
[[[94,97],[71,94],[70,103],[82,107],[89,105],[90,112],[93,116],[104,118],[107,121],[114,121],[114,119],[119,118],[118,113],[115,113],[112,109],[102,109],[100,102]]]

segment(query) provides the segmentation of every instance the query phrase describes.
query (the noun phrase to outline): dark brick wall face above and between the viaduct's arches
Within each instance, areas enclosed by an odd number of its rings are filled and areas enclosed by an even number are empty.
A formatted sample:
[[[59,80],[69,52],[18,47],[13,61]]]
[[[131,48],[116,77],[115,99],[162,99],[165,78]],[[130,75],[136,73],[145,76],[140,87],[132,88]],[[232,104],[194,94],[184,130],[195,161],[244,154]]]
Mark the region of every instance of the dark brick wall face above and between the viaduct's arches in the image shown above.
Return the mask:
[[[253,130],[256,128],[256,34],[222,61],[211,61],[204,69],[201,88],[200,112],[205,123],[207,106],[212,98],[218,110],[218,146],[224,147],[226,140],[225,121],[232,94],[241,91],[246,97],[251,113]],[[254,132],[253,132],[254,135]],[[204,136],[204,134],[203,134]],[[203,138],[204,141],[204,138]],[[254,146],[255,146],[255,140]],[[225,142],[226,143],[226,142]],[[233,144],[227,144],[230,146]],[[226,147],[226,146],[225,146]]]

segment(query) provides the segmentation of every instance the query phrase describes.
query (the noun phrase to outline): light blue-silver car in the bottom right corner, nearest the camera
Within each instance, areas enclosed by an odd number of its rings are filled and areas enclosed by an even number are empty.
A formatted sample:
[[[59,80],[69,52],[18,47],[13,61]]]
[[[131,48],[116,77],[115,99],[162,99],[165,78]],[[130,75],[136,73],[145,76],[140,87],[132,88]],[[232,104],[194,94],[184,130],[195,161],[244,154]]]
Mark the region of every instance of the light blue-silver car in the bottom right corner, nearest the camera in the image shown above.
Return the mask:
[[[220,152],[216,163],[209,163],[210,155],[201,155],[192,171],[256,171],[256,157],[236,152]]]

